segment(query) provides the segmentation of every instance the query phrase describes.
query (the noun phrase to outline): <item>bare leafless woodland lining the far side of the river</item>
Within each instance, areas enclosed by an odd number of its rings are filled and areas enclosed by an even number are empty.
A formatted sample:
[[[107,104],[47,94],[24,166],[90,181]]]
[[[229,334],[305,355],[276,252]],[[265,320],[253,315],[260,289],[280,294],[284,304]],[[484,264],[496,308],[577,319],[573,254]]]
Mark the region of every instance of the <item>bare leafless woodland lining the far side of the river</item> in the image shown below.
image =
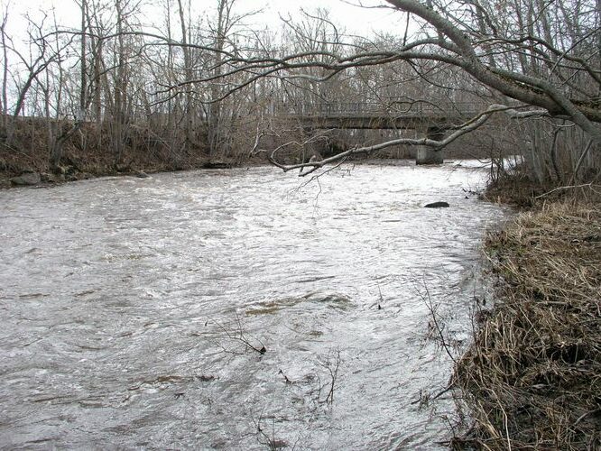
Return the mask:
[[[595,179],[601,168],[601,0],[389,0],[402,26],[371,37],[347,35],[325,10],[257,29],[236,0],[207,11],[193,0],[72,4],[79,26],[32,12],[24,37],[8,32],[23,19],[4,5],[0,169],[23,170],[23,155],[37,169],[97,172],[271,155],[283,169],[319,170],[308,155],[398,156],[405,144],[522,153],[538,182]],[[293,119],[351,104],[389,115],[469,105],[475,115],[440,141],[308,133]]]

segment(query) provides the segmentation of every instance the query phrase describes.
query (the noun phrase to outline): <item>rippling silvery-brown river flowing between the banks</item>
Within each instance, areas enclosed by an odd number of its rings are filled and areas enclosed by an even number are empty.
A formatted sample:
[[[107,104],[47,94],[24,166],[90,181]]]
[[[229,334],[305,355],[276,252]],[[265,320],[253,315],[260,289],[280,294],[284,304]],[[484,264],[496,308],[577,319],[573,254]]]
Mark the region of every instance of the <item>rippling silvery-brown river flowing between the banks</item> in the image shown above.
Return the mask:
[[[460,354],[505,214],[470,193],[477,166],[1,191],[0,446],[440,447],[428,299]]]

